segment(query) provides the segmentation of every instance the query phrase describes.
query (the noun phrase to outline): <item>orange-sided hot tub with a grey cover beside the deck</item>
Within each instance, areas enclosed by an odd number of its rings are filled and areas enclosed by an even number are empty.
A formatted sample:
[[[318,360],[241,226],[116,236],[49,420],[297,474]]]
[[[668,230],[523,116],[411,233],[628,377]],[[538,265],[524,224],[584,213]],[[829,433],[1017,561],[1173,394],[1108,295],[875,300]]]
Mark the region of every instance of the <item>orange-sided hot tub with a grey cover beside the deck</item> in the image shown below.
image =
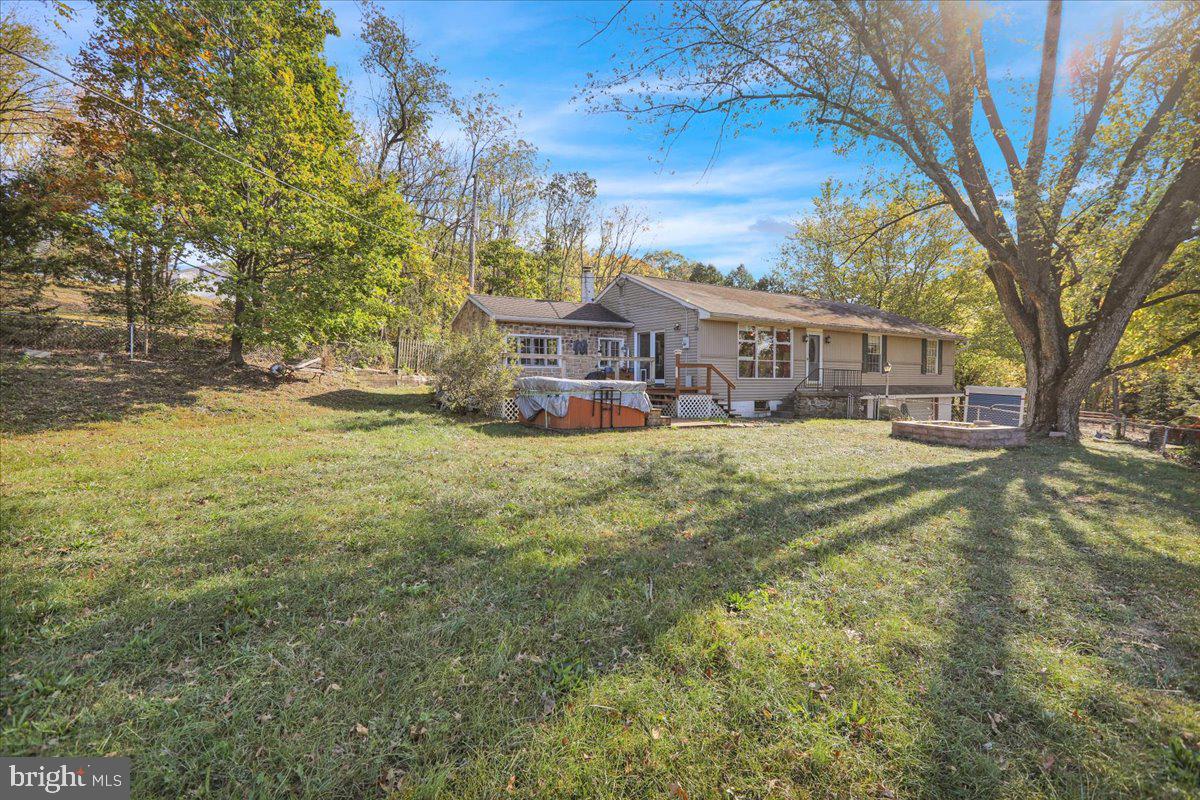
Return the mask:
[[[548,431],[643,428],[650,398],[641,380],[518,378],[521,422]]]

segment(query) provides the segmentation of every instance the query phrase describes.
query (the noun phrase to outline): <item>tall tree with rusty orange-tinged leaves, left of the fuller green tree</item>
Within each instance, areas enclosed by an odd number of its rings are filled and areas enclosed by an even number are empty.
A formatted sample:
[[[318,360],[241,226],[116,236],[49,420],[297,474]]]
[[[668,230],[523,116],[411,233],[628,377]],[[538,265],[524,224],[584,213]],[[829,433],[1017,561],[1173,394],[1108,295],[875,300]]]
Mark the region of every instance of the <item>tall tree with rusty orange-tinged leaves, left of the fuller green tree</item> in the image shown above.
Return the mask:
[[[172,98],[150,68],[152,17],[149,5],[101,1],[96,31],[76,62],[82,92],[74,115],[59,126],[64,162],[77,175],[74,191],[88,210],[80,221],[90,236],[80,265],[92,284],[94,311],[138,324],[148,335],[194,318],[179,259],[186,248],[190,175],[175,163],[178,137],[146,122],[168,110]],[[113,102],[115,98],[120,103]]]

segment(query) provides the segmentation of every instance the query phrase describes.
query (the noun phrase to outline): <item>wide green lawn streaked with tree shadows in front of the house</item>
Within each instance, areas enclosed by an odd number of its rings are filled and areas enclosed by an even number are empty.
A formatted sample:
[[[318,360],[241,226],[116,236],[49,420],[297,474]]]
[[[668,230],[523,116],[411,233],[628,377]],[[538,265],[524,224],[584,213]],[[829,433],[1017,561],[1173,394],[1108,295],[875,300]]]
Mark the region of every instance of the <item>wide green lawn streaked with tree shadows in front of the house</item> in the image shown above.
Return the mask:
[[[1200,480],[1134,449],[0,390],[0,752],[145,798],[1200,792]]]

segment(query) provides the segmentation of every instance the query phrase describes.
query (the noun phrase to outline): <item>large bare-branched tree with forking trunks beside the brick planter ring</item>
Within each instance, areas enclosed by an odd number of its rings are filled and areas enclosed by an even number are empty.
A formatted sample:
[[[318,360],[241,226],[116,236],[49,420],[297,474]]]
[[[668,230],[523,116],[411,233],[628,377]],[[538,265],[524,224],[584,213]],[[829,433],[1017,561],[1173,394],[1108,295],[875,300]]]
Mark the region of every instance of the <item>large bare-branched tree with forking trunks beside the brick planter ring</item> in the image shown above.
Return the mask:
[[[631,22],[642,47],[593,98],[670,138],[696,120],[733,131],[792,109],[842,149],[900,158],[986,253],[1031,428],[1078,434],[1084,395],[1124,366],[1112,356],[1130,319],[1178,290],[1176,251],[1200,235],[1200,6],[1118,18],[1070,54],[1066,97],[1062,14],[1051,0],[1036,90],[1004,96],[980,4],[680,1]],[[617,91],[630,85],[643,91]],[[1031,109],[1024,124],[1014,108]]]

